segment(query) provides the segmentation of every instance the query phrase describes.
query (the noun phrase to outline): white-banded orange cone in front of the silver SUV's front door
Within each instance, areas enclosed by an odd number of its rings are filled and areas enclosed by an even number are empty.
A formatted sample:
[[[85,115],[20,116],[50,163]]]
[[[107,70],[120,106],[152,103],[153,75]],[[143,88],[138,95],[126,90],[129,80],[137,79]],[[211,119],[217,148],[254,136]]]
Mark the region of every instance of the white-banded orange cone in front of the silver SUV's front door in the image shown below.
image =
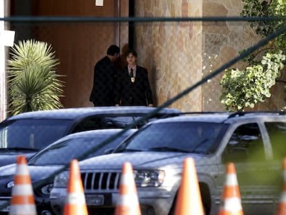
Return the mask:
[[[227,164],[227,176],[222,191],[219,215],[242,215],[242,205],[236,167],[233,162]]]

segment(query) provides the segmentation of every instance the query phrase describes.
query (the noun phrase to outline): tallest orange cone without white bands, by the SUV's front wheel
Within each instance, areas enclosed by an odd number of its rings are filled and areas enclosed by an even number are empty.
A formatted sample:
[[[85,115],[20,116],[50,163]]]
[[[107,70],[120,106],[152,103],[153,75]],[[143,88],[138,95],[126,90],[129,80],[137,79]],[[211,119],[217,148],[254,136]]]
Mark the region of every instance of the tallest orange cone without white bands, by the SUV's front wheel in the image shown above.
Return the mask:
[[[204,214],[198,176],[193,158],[183,162],[182,181],[175,205],[175,215]]]

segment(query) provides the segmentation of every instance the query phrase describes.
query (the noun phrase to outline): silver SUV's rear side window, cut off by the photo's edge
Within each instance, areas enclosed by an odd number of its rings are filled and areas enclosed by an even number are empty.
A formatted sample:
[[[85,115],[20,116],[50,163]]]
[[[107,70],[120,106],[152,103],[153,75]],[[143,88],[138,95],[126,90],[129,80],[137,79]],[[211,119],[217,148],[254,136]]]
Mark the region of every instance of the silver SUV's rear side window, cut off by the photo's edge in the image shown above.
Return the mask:
[[[286,156],[286,122],[265,122],[271,141],[274,159],[282,160]]]

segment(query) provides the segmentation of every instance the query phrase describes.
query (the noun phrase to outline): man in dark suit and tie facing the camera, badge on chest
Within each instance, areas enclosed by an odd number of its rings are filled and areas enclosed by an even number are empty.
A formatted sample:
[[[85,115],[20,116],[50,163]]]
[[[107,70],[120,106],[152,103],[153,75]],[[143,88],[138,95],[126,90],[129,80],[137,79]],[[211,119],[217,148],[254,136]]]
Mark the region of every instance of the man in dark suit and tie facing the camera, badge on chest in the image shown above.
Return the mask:
[[[128,63],[117,75],[115,104],[133,106],[153,106],[153,95],[146,68],[137,65],[137,53],[128,50]]]

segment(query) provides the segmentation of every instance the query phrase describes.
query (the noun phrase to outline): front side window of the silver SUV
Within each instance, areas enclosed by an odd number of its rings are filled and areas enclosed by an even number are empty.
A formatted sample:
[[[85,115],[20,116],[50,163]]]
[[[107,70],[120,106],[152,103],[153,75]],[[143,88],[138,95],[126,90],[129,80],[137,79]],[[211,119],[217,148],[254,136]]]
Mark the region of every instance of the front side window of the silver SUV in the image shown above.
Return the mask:
[[[263,140],[258,124],[249,123],[237,127],[229,139],[223,157],[233,162],[265,160]]]

